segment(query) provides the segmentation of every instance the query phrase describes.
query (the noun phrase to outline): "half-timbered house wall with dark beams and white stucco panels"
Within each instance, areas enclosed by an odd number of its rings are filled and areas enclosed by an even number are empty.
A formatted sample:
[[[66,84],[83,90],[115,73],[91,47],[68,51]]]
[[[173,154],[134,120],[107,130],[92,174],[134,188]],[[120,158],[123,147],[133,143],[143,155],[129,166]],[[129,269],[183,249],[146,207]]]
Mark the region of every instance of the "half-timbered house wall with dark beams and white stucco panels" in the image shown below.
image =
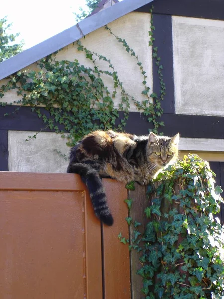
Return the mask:
[[[223,162],[224,2],[155,0],[153,5],[154,46],[158,47],[166,84],[161,117],[165,127],[160,131],[166,135],[180,132],[180,156],[195,152],[209,161]],[[148,47],[150,8],[151,4],[147,4],[113,21],[109,27],[136,51],[146,69],[149,85],[159,94],[157,66]],[[133,57],[107,30],[103,27],[95,30],[82,39],[82,43],[90,50],[110,56],[126,90],[138,100],[144,99],[140,73]],[[57,54],[57,59],[75,58],[88,64],[73,44]],[[28,68],[33,67],[34,64]],[[107,83],[112,88],[112,82]],[[17,95],[7,93],[4,99],[13,102]],[[25,142],[45,125],[29,107],[10,114],[13,110],[9,105],[0,107],[0,170],[65,172],[67,161],[56,150],[68,154],[66,141],[47,128],[37,139]],[[5,113],[9,115],[4,116]],[[152,124],[147,117],[131,105],[125,130],[140,135],[148,134],[149,128]]]

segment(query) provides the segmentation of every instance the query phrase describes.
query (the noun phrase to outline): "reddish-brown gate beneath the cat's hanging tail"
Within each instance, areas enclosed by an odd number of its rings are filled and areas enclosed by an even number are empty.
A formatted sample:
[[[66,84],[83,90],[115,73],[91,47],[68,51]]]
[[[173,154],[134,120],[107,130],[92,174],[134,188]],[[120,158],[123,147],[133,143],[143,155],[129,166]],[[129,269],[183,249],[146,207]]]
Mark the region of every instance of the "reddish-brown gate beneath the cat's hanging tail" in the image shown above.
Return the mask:
[[[0,299],[130,299],[127,190],[104,186],[112,227],[78,175],[0,172]]]

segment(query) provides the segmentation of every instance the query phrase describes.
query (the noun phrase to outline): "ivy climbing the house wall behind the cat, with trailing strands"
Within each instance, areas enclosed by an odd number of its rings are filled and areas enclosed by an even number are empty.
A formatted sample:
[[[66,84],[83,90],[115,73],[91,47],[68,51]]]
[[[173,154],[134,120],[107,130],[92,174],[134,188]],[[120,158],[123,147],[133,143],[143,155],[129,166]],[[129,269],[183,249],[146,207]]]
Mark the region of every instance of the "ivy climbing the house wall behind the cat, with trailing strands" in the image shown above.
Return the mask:
[[[151,17],[151,31],[149,31],[149,46],[153,47],[155,28],[152,21],[153,17]],[[92,67],[84,66],[76,59],[58,61],[52,54],[37,62],[38,71],[19,71],[11,76],[9,81],[1,86],[0,98],[3,98],[8,90],[15,89],[22,99],[14,101],[14,104],[31,106],[32,111],[46,124],[46,127],[40,131],[49,127],[61,133],[62,137],[68,138],[69,146],[76,144],[83,135],[96,129],[123,130],[131,102],[147,116],[149,122],[153,123],[153,130],[157,133],[159,126],[163,126],[163,122],[158,121],[158,118],[163,112],[160,101],[165,96],[162,65],[157,55],[158,49],[153,47],[152,51],[160,76],[161,94],[159,96],[152,93],[147,85],[143,63],[139,61],[134,50],[130,48],[125,39],[116,36],[108,26],[105,26],[105,29],[109,30],[110,34],[123,45],[126,52],[133,56],[141,70],[142,95],[145,96],[145,100],[141,103],[126,92],[112,61],[88,50],[81,41],[77,41],[75,46],[79,51],[85,52],[86,58],[92,62]],[[97,64],[99,60],[107,64],[107,70],[99,68]],[[113,91],[109,91],[103,79],[104,76],[113,80]],[[116,108],[114,98],[118,97],[118,93],[121,100]],[[5,106],[6,103],[1,102],[1,105]],[[44,106],[45,110],[40,106]],[[17,110],[19,107],[15,109]],[[65,132],[67,132],[66,135]],[[29,136],[29,139],[35,138],[36,134]]]

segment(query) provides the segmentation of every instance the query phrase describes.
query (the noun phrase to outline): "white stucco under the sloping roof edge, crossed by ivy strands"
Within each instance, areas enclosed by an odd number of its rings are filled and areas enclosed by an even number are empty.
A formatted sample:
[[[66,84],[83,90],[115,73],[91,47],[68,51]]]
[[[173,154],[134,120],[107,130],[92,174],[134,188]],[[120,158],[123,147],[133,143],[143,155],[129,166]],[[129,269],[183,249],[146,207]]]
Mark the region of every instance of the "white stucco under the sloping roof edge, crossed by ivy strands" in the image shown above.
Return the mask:
[[[149,36],[148,31],[150,30],[150,14],[132,12],[129,13],[112,23],[108,24],[108,27],[112,29],[115,35],[120,38],[125,39],[127,44],[133,48],[136,55],[142,65],[147,75],[147,85],[152,88],[152,51],[151,47],[148,46]],[[137,60],[135,57],[131,56],[130,53],[125,51],[125,48],[119,43],[114,36],[110,34],[108,30],[104,27],[88,34],[85,38],[81,39],[82,45],[84,45],[88,50],[94,51],[100,55],[105,56],[107,59],[111,60],[114,65],[115,71],[117,71],[120,81],[126,92],[133,96],[138,101],[146,100],[146,96],[142,95],[141,92],[144,90],[144,85],[142,81],[144,80],[143,75],[137,65]],[[63,48],[56,55],[57,60],[70,60],[78,59],[80,64],[84,66],[93,67],[93,63],[86,58],[86,54],[82,51],[77,50],[77,43],[70,44],[69,46]],[[96,64],[99,65],[100,69],[108,70],[112,72],[112,68],[108,67],[108,63],[98,59]],[[26,68],[29,70],[36,70],[36,64],[32,64]],[[105,85],[108,86],[109,91],[114,90],[114,81],[106,75],[102,76]],[[6,81],[1,80],[0,86]],[[151,89],[152,92],[152,89]],[[2,101],[11,103],[14,100],[21,99],[18,97],[16,90],[11,90],[5,93]],[[117,93],[114,99],[115,107],[118,108],[120,103],[121,95]],[[137,111],[133,102],[130,103],[130,111]]]

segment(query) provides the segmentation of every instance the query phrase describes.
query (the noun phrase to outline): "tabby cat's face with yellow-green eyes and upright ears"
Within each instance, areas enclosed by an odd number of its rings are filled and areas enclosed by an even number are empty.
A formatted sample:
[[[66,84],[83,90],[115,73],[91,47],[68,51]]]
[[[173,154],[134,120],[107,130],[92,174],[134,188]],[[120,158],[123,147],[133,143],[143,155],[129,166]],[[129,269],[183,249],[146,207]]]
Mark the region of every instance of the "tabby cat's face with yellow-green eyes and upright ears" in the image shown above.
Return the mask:
[[[155,163],[157,168],[163,168],[178,157],[178,143],[180,135],[174,137],[159,136],[150,132],[147,145],[147,158]]]

